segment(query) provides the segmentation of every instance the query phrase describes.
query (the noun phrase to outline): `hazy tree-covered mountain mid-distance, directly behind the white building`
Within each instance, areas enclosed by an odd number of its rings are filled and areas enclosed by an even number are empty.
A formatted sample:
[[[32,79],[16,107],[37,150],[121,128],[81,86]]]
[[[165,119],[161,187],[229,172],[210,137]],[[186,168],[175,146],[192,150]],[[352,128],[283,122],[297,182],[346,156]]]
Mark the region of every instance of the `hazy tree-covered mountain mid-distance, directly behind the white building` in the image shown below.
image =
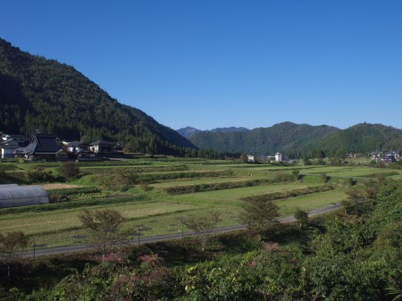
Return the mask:
[[[245,132],[203,131],[189,138],[196,146],[213,148],[222,152],[244,152],[256,155],[272,155],[285,152],[289,155],[309,151],[337,128],[321,125],[282,122],[269,128]]]

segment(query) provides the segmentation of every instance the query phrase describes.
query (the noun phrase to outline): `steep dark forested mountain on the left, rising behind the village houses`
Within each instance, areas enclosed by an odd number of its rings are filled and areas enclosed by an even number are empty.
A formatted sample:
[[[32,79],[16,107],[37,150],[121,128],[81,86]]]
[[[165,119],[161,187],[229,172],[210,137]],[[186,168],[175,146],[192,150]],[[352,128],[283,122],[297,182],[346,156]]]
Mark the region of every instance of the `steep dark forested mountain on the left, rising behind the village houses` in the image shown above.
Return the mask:
[[[121,105],[73,67],[22,52],[0,38],[0,130],[35,127],[63,139],[119,141],[132,151],[177,154],[195,148],[146,113]]]

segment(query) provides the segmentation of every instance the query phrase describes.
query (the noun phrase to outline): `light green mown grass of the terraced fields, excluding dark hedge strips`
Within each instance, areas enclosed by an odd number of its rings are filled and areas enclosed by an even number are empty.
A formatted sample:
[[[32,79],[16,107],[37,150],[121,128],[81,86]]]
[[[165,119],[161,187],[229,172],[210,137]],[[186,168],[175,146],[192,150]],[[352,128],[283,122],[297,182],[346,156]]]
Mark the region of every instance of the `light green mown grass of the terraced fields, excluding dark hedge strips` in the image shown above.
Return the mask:
[[[49,170],[55,169],[55,163],[41,163]],[[99,172],[115,169],[140,169],[141,174],[163,175],[188,172],[192,174],[191,179],[177,180],[158,180],[150,183],[152,189],[145,190],[143,183],[138,187],[130,188],[124,194],[134,193],[147,196],[146,201],[110,204],[110,205],[92,205],[90,209],[113,208],[118,210],[126,218],[124,227],[132,230],[133,235],[137,233],[138,228],[141,235],[153,236],[173,232],[180,232],[182,229],[179,218],[188,214],[202,216],[207,210],[214,210],[222,213],[222,222],[219,226],[237,224],[239,213],[241,213],[241,200],[245,196],[257,196],[271,194],[276,192],[291,191],[294,189],[314,187],[322,184],[322,173],[330,177],[330,183],[334,187],[330,191],[321,193],[311,193],[309,195],[294,196],[284,199],[278,199],[274,202],[280,206],[281,216],[292,215],[295,208],[301,207],[306,211],[311,211],[326,205],[339,203],[345,199],[345,193],[342,186],[348,179],[365,180],[374,178],[376,174],[384,174],[393,179],[400,179],[402,171],[389,169],[369,168],[364,166],[277,166],[277,165],[249,165],[244,163],[234,163],[227,161],[206,161],[206,160],[180,160],[174,158],[164,159],[140,159],[127,160],[119,163],[93,163],[93,165],[82,166],[85,176],[78,180],[72,180],[67,183],[79,187],[98,186],[96,182]],[[16,163],[19,171],[29,168],[29,163]],[[185,167],[183,167],[185,166]],[[159,167],[160,171],[151,171],[152,168]],[[174,171],[174,169],[186,169],[186,171]],[[147,169],[151,172],[147,172]],[[231,176],[214,177],[194,177],[194,174],[204,175],[207,171],[232,171]],[[172,188],[175,186],[191,186],[214,183],[245,182],[255,179],[275,179],[278,173],[290,174],[291,171],[299,170],[300,174],[305,175],[304,181],[289,181],[279,183],[264,183],[259,186],[244,188],[225,188],[214,191],[201,191],[197,193],[187,193],[183,195],[168,195],[163,192],[163,188]],[[195,173],[196,172],[196,173]],[[224,174],[224,173],[222,173]],[[162,179],[162,178],[161,178]],[[46,186],[45,186],[46,187]],[[47,188],[49,188],[47,186]],[[59,187],[60,188],[60,187]],[[103,192],[110,193],[108,191]],[[98,197],[78,196],[80,197]],[[83,198],[84,199],[84,198]],[[1,210],[1,209],[0,209]],[[52,212],[23,212],[9,213],[0,216],[0,230],[2,232],[21,230],[31,238],[35,238],[36,244],[53,247],[80,242],[80,238],[85,235],[79,219],[81,208],[63,209]]]

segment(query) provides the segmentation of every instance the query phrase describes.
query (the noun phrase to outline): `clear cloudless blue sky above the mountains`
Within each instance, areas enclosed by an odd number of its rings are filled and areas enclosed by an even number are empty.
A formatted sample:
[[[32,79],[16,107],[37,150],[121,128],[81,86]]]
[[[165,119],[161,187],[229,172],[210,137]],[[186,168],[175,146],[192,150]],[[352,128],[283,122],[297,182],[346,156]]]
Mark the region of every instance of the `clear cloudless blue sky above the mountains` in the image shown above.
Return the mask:
[[[179,129],[402,129],[402,1],[13,0],[0,37]]]

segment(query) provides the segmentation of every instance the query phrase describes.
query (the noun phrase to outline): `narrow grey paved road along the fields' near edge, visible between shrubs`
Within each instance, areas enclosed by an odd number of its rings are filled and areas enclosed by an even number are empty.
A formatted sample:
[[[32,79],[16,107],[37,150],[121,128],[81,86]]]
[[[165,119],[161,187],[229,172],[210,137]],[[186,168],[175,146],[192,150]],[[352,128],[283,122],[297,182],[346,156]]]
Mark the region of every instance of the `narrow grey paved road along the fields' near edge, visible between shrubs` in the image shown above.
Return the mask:
[[[340,207],[340,204],[329,205],[327,207],[315,209],[312,212],[308,213],[308,216],[315,216],[322,213],[329,213],[333,210],[336,210]],[[287,216],[278,220],[278,222],[295,222],[295,218],[293,216]],[[235,230],[244,230],[247,228],[247,225],[235,225],[235,226],[227,226],[221,228],[215,228],[212,230],[213,233],[223,233],[223,232],[230,232]],[[166,235],[159,235],[153,237],[146,237],[146,238],[137,238],[132,239],[129,241],[130,245],[136,244],[147,244],[147,243],[154,243],[158,241],[165,241],[165,240],[172,240],[172,239],[179,239],[183,237],[194,237],[197,236],[194,232],[184,232],[184,233],[174,233],[174,234],[166,234]],[[71,245],[71,246],[63,246],[63,247],[48,247],[48,248],[40,248],[35,247],[32,250],[21,252],[23,257],[36,257],[36,256],[45,256],[45,255],[60,255],[60,254],[71,254],[76,252],[83,252],[93,249],[92,245],[83,244],[83,245]]]

